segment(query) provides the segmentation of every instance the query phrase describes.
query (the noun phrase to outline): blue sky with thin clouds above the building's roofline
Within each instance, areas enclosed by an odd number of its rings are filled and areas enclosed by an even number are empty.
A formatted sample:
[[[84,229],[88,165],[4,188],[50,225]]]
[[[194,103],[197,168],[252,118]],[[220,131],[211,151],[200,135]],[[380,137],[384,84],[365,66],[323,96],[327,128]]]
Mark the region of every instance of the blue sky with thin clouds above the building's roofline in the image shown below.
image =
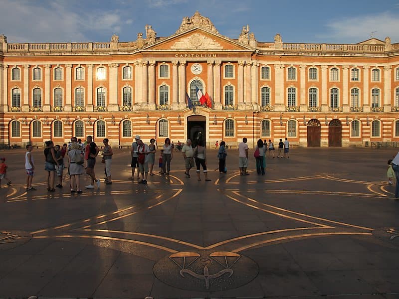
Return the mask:
[[[0,34],[8,43],[133,41],[146,24],[172,35],[196,10],[230,38],[248,24],[261,42],[276,33],[283,42],[399,42],[399,0],[0,0]]]

